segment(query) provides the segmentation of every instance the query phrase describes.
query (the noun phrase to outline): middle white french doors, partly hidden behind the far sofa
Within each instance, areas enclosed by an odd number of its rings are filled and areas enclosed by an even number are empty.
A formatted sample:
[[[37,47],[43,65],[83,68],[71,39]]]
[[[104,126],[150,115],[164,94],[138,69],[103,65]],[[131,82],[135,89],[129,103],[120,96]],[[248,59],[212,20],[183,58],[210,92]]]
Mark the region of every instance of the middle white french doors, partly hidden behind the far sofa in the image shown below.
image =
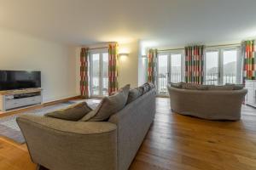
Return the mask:
[[[183,52],[158,54],[157,88],[158,94],[166,95],[169,82],[182,82],[184,77]]]

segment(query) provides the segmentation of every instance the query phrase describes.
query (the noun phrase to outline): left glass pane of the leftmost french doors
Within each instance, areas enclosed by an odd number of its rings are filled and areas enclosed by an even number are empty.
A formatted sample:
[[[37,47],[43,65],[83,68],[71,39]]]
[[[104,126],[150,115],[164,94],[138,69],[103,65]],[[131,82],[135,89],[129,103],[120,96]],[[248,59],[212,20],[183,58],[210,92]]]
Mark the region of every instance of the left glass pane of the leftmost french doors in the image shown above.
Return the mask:
[[[100,95],[100,54],[92,54],[92,95]]]

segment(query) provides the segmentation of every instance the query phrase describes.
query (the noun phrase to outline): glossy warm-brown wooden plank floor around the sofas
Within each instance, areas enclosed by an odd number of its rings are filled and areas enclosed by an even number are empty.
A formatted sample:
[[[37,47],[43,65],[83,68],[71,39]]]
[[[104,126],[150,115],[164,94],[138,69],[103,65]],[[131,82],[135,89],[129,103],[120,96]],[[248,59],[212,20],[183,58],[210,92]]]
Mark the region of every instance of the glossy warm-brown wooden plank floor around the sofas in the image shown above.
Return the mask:
[[[26,145],[0,137],[0,169],[34,170]],[[154,124],[131,170],[255,170],[256,110],[243,106],[239,122],[211,122],[170,111],[157,99]]]

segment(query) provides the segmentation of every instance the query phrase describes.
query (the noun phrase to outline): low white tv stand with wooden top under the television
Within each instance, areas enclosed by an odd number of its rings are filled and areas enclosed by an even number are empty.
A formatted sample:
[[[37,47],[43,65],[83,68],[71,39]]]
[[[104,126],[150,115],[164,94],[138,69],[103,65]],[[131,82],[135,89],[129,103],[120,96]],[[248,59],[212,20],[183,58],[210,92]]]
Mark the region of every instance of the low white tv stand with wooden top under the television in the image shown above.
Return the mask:
[[[42,104],[41,88],[0,91],[0,111]]]

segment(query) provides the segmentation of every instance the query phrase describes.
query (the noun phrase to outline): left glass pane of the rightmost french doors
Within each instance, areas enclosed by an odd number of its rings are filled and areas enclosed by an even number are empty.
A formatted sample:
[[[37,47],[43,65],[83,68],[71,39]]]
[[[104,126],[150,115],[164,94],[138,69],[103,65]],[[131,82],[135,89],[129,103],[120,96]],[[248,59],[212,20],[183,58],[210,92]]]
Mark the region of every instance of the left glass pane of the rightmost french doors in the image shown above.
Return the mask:
[[[218,84],[218,51],[206,54],[206,84]]]

